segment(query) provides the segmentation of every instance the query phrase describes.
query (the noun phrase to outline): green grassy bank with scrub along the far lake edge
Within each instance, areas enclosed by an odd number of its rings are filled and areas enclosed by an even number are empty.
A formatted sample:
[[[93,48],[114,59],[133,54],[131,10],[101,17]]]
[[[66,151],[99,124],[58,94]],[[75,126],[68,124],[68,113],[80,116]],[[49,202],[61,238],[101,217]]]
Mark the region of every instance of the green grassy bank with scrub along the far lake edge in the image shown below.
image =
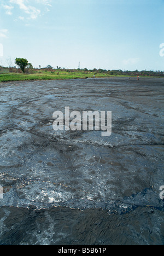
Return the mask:
[[[31,73],[30,73],[31,72]],[[29,69],[26,73],[22,73],[20,69],[16,68],[2,68],[0,69],[0,82],[10,81],[25,81],[25,80],[63,80],[63,79],[77,79],[77,78],[107,78],[107,77],[164,77],[163,72],[139,72],[139,71],[106,71],[103,69]]]

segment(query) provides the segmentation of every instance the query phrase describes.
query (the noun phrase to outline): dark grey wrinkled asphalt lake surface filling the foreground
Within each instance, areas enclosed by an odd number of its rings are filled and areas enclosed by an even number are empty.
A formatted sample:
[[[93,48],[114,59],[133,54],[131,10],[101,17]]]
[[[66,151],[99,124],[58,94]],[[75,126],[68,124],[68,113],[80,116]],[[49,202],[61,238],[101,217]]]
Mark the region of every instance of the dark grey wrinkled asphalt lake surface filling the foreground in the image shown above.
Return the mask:
[[[1,245],[164,245],[164,79],[0,84]],[[112,135],[52,114],[112,111]],[[164,194],[164,193],[163,193]]]

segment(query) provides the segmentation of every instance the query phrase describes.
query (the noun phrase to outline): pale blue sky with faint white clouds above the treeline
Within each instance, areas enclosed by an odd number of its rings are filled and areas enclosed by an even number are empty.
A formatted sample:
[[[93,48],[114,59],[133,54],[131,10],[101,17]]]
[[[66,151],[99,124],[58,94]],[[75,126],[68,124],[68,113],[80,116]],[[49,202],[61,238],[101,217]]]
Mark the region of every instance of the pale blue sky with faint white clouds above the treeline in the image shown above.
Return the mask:
[[[164,70],[163,0],[0,0],[0,65]]]

